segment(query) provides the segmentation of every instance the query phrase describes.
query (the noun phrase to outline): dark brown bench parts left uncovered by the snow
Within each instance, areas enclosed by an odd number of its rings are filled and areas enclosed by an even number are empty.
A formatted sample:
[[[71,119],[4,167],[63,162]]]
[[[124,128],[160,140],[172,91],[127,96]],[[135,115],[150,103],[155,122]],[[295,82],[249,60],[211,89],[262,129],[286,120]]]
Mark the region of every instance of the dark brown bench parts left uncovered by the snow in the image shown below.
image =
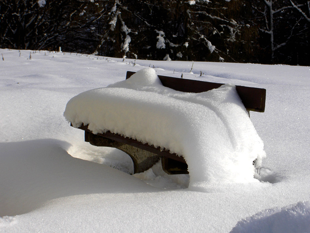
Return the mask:
[[[127,72],[126,79],[135,72]],[[174,90],[183,92],[199,93],[218,88],[223,83],[198,81],[184,78],[172,78],[158,76],[162,84]],[[263,113],[265,111],[266,89],[236,86],[237,92],[246,110]],[[168,174],[188,174],[187,164],[182,156],[170,153],[154,146],[143,144],[135,139],[106,133],[93,134],[87,125],[81,125],[79,129],[85,131],[85,142],[98,147],[117,148],[132,158],[134,162],[134,173],[140,173],[151,168],[161,158],[163,170]]]

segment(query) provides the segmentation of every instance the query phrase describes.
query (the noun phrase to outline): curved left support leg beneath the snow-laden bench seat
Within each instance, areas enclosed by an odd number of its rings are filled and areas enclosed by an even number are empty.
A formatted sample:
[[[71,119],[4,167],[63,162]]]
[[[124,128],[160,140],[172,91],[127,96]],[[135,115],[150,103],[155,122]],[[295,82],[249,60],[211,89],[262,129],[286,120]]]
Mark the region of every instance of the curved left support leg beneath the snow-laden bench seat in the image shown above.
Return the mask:
[[[121,142],[116,142],[87,131],[85,131],[85,142],[89,142],[91,145],[97,147],[113,147],[125,152],[134,162],[134,173],[148,170],[158,162],[161,157],[160,155]]]

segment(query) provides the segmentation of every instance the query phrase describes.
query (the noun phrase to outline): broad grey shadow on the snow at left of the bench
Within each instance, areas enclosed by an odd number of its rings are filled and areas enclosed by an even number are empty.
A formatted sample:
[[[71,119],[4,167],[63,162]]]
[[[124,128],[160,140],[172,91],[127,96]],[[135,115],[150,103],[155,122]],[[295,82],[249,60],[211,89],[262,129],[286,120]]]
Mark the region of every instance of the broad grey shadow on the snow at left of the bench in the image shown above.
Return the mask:
[[[0,217],[70,195],[161,192],[109,166],[74,158],[54,139],[0,143]]]

